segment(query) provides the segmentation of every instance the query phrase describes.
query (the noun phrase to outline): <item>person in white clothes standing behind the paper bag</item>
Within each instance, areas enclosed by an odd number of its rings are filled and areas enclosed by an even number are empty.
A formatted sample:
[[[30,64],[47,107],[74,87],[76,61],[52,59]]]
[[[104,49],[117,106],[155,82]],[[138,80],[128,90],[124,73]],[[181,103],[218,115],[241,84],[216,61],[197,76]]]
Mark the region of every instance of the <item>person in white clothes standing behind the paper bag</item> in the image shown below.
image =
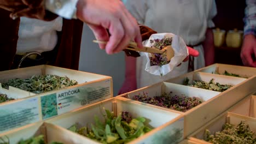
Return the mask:
[[[216,3],[211,1],[151,1],[127,0],[126,8],[138,23],[149,26],[158,33],[171,32],[181,36],[185,43],[199,51],[199,57],[190,57],[170,73],[160,77],[147,73],[144,57],[125,57],[125,81],[119,94],[153,85],[214,63],[213,17],[217,14]]]

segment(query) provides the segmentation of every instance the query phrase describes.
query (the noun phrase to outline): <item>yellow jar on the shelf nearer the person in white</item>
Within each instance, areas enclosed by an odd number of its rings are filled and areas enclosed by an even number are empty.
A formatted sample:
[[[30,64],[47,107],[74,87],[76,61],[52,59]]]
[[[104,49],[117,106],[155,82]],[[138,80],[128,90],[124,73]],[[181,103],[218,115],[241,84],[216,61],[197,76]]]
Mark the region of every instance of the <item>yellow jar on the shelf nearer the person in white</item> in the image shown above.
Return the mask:
[[[219,28],[213,29],[214,46],[220,47],[225,43],[225,33],[226,31]]]

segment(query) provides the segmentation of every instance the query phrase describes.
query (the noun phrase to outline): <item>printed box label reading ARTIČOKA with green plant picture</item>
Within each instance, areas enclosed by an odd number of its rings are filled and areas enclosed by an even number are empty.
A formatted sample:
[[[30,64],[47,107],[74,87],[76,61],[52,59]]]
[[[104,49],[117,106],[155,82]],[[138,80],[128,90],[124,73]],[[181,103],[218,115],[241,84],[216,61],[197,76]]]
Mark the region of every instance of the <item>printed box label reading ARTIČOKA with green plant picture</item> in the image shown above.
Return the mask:
[[[45,95],[41,98],[43,119],[108,99],[112,97],[111,91],[111,81],[109,79]]]

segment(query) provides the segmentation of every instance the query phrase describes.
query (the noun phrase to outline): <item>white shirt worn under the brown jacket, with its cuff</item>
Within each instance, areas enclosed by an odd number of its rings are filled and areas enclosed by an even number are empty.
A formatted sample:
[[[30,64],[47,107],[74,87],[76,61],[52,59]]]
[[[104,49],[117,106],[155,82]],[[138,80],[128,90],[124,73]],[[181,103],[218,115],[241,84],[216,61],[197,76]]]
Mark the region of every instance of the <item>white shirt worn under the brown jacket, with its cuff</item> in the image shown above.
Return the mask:
[[[57,44],[57,33],[62,29],[62,17],[76,19],[78,0],[46,0],[45,8],[61,17],[42,21],[21,17],[16,53],[51,51]]]

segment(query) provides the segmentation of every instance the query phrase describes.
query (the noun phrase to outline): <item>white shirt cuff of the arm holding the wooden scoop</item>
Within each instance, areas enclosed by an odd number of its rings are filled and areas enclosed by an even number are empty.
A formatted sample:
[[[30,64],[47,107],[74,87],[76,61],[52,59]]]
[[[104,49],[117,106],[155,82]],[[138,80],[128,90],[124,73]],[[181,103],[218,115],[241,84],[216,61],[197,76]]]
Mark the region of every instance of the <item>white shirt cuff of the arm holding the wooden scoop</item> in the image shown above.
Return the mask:
[[[65,19],[77,19],[78,0],[45,0],[45,9]]]

